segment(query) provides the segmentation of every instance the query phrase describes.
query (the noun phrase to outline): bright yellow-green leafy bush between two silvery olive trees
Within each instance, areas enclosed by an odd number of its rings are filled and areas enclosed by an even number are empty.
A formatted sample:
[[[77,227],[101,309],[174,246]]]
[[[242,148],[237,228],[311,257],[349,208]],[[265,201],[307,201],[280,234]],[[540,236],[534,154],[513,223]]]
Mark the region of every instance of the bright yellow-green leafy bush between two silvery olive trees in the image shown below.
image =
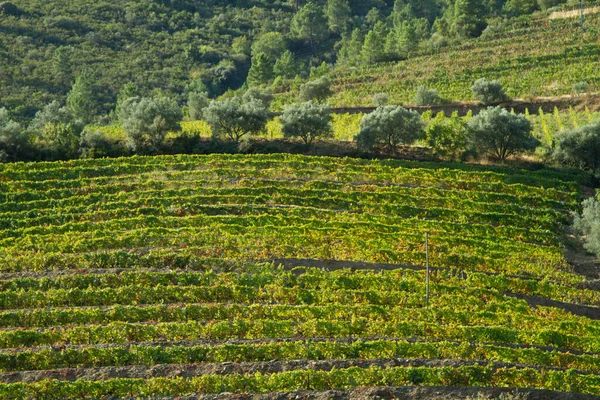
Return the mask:
[[[458,113],[446,118],[439,112],[425,130],[427,144],[441,155],[451,155],[455,158],[467,146],[467,123]]]

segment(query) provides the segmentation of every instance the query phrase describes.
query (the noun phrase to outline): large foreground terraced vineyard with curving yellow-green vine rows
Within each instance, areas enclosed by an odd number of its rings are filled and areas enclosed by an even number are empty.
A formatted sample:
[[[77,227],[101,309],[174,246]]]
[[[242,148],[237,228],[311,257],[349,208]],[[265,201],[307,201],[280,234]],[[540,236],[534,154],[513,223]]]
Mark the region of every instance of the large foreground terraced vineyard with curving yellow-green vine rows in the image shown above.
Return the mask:
[[[600,292],[561,244],[581,173],[214,155],[0,177],[0,398],[600,395]]]

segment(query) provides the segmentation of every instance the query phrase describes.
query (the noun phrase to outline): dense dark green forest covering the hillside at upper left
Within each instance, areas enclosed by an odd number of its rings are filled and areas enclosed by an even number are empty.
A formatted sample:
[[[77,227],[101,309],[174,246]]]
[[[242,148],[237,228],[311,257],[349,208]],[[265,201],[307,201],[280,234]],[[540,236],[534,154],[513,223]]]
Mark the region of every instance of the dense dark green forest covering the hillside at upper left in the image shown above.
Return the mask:
[[[401,60],[561,0],[12,0],[0,3],[0,108],[28,122],[70,92],[97,122],[124,97],[218,97]],[[121,96],[119,93],[121,92]],[[104,116],[104,117],[100,117]]]

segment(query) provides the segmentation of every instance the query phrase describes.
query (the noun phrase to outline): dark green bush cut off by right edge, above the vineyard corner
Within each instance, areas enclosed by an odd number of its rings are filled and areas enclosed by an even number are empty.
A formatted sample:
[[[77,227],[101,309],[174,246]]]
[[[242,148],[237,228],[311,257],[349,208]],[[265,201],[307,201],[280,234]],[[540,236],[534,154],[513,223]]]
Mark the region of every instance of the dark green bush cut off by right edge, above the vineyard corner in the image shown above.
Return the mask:
[[[600,167],[600,121],[559,132],[554,158],[559,163],[598,172]]]

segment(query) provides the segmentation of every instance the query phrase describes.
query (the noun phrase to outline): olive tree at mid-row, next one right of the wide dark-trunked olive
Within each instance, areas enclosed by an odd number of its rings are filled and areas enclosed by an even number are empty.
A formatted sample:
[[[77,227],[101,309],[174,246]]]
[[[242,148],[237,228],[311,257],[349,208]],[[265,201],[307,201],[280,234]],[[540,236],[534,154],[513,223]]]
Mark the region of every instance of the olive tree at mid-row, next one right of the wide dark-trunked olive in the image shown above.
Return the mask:
[[[331,108],[329,105],[308,101],[285,107],[280,117],[282,132],[286,138],[299,137],[310,145],[317,138],[333,137]]]

